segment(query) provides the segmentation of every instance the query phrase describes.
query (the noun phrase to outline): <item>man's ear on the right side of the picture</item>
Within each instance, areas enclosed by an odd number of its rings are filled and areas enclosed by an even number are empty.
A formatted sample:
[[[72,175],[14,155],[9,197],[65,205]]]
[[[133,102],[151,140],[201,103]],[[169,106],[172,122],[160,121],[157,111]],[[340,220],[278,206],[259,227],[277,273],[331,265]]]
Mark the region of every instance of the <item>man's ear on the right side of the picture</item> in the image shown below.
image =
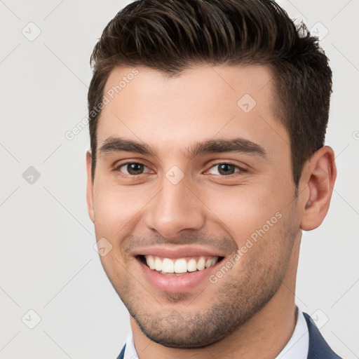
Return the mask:
[[[328,146],[318,149],[305,163],[299,186],[302,197],[301,228],[304,231],[316,229],[323,222],[336,177],[334,151]]]

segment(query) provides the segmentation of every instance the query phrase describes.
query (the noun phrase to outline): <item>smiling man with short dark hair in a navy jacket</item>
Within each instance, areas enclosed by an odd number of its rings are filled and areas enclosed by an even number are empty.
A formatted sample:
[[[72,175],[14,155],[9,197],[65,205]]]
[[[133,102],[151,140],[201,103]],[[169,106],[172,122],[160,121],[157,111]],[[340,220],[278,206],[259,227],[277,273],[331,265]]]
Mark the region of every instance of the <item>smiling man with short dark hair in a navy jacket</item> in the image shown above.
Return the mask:
[[[339,358],[294,302],[336,178],[317,39],[273,1],[143,0],[91,60],[88,212],[130,312],[118,358]]]

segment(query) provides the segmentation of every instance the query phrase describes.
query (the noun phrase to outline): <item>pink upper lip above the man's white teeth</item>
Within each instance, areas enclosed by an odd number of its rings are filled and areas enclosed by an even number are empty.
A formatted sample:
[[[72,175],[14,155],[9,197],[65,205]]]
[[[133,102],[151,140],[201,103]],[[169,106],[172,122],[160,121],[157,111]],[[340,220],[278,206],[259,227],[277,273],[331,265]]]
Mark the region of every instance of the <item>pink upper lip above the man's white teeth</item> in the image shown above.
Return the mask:
[[[154,255],[163,258],[183,258],[183,257],[224,257],[219,250],[210,248],[196,247],[195,245],[155,245],[145,248],[137,248],[133,252],[134,256]]]

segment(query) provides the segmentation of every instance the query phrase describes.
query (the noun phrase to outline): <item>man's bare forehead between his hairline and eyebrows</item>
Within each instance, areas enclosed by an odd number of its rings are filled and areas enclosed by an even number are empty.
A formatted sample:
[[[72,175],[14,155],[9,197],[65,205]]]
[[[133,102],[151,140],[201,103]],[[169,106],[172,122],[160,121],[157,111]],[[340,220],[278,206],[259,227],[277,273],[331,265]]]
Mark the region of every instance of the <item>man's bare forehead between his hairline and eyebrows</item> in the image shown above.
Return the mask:
[[[273,74],[263,65],[201,65],[174,77],[147,67],[116,67],[104,96],[99,146],[121,136],[183,153],[201,140],[243,137],[269,151],[289,150],[276,116]]]

